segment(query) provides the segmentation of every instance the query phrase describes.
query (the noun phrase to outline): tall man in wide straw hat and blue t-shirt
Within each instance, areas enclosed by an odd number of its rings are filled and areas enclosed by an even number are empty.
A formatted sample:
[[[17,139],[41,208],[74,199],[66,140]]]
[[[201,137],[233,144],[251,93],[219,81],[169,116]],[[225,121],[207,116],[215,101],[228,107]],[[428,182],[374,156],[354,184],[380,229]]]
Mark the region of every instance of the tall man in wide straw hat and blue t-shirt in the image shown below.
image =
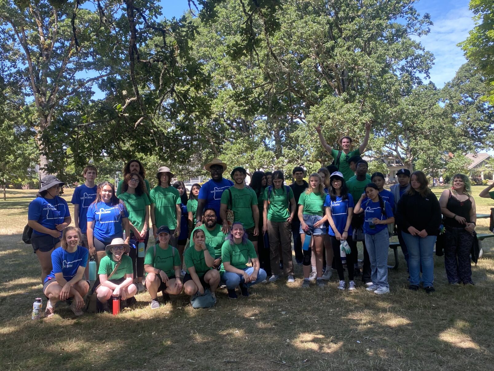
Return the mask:
[[[210,172],[211,179],[203,184],[197,196],[196,227],[203,224],[203,212],[206,208],[213,208],[216,211],[218,224],[222,224],[219,212],[221,195],[225,189],[233,185],[231,180],[223,178],[227,166],[221,160],[213,158],[204,168]]]

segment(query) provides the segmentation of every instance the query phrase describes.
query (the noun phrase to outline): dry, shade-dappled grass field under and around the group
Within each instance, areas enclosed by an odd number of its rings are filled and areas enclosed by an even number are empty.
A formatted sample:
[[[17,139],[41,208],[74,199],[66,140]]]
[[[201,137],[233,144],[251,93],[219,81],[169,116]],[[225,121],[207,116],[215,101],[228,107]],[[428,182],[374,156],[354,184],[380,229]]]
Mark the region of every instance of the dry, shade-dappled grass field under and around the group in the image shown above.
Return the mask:
[[[65,189],[67,201],[71,194]],[[336,272],[325,288],[302,290],[296,266],[295,283],[257,285],[238,300],[219,290],[210,310],[192,309],[182,294],[151,312],[142,293],[118,316],[76,319],[63,303],[53,318],[32,321],[41,270],[21,233],[34,196],[7,190],[0,201],[0,370],[493,370],[493,239],[472,267],[475,286],[449,286],[436,257],[432,295],[408,290],[400,252],[388,295],[360,281],[355,292],[340,292]],[[476,201],[479,213],[494,206]],[[480,220],[477,232],[488,224]]]

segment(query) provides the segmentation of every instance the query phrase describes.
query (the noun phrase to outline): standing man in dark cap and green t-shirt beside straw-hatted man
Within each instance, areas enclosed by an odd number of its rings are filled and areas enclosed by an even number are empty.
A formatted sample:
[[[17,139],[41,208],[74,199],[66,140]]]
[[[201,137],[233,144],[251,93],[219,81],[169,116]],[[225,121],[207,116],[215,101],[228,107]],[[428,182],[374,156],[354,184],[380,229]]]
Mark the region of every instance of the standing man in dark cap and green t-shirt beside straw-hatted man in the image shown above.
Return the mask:
[[[227,188],[221,195],[220,216],[223,221],[223,233],[227,233],[230,230],[226,219],[226,211],[232,210],[234,222],[242,223],[247,233],[247,238],[252,242],[257,253],[257,238],[259,236],[257,195],[253,189],[245,186],[244,181],[247,171],[242,166],[234,168],[230,176],[235,181],[235,185]]]

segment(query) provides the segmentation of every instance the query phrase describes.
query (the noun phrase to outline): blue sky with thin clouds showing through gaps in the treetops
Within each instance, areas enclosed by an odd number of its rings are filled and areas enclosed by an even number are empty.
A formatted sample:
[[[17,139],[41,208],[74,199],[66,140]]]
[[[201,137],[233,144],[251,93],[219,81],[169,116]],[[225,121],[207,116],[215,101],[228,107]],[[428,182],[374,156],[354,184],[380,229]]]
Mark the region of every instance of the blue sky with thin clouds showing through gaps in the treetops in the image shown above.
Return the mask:
[[[463,51],[456,46],[468,36],[474,26],[473,13],[468,9],[468,0],[419,0],[415,7],[420,14],[429,13],[434,22],[431,32],[419,38],[426,50],[434,54],[431,81],[442,88],[450,81],[458,68],[465,63]],[[166,18],[180,17],[188,9],[187,0],[162,0]]]

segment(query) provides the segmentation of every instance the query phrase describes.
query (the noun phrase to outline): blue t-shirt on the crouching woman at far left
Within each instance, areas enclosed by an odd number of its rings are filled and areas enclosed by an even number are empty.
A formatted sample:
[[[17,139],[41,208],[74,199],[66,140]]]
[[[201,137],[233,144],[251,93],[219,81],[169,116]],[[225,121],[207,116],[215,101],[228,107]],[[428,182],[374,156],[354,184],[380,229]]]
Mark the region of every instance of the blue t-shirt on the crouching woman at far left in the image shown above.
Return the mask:
[[[77,246],[75,252],[68,252],[63,247],[58,247],[51,253],[51,272],[44,281],[55,278],[55,273],[62,273],[63,278],[70,281],[77,273],[79,267],[86,267],[89,250]]]

